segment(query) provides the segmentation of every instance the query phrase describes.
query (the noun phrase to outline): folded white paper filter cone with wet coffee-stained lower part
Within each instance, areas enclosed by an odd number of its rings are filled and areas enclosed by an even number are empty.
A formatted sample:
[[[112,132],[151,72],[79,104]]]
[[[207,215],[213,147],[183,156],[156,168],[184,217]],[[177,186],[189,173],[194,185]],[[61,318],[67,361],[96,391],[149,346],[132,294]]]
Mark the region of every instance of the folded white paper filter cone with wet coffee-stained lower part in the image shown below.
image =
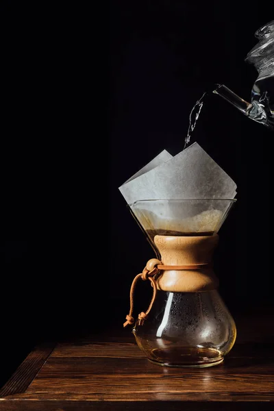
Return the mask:
[[[197,142],[162,151],[119,190],[151,240],[216,234],[236,201],[235,182]]]

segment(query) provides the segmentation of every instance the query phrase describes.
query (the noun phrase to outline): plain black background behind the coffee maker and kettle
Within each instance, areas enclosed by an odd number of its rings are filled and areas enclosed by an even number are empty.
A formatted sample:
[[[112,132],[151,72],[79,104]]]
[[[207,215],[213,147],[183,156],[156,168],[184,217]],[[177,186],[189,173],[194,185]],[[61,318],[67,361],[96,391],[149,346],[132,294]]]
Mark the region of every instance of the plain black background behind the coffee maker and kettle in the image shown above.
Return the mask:
[[[154,255],[118,188],[183,149],[204,90],[249,99],[245,56],[271,20],[229,1],[68,7],[1,14],[1,383],[41,340],[121,332]],[[220,293],[232,314],[272,310],[273,132],[212,95],[192,138],[238,186],[214,258]]]

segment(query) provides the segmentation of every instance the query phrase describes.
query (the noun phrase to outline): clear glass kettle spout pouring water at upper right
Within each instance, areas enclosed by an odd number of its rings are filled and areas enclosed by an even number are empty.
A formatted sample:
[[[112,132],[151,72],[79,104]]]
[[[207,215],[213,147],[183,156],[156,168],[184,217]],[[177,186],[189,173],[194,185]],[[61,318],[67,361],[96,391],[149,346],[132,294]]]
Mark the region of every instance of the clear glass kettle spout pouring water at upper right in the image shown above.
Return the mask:
[[[247,101],[241,99],[232,90],[227,88],[224,84],[217,84],[216,89],[213,91],[232,105],[238,108],[242,114],[245,114],[254,121],[266,125],[267,127],[273,127],[269,122],[269,114],[266,112],[266,107],[264,106],[264,101],[253,101],[248,103]]]

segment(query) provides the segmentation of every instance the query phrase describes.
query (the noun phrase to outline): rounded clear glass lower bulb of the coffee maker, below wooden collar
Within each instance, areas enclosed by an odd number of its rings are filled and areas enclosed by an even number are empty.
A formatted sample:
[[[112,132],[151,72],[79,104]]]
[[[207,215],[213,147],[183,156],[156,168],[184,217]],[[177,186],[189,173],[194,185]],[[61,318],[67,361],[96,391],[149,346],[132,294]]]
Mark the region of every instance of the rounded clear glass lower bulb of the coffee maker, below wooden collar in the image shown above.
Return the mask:
[[[217,290],[158,291],[149,318],[133,333],[154,364],[201,368],[223,361],[236,326]]]

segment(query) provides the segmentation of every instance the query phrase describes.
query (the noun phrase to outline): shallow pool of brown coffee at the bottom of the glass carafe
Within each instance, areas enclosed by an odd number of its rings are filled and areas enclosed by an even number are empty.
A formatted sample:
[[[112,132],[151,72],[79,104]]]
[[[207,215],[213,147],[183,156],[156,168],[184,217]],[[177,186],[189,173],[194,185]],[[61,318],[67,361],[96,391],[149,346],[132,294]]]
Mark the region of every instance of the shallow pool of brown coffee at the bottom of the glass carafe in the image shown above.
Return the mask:
[[[160,366],[204,368],[223,362],[220,351],[205,347],[153,349],[149,361]]]

